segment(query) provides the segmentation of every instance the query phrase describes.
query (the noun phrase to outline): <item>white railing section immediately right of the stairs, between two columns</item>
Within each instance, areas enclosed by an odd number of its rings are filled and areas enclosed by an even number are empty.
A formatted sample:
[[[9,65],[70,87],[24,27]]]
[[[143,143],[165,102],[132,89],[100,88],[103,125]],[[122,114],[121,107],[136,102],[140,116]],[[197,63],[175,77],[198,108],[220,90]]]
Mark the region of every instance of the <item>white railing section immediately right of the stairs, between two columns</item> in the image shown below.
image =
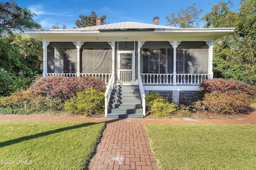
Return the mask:
[[[141,74],[143,84],[173,84],[173,74]]]

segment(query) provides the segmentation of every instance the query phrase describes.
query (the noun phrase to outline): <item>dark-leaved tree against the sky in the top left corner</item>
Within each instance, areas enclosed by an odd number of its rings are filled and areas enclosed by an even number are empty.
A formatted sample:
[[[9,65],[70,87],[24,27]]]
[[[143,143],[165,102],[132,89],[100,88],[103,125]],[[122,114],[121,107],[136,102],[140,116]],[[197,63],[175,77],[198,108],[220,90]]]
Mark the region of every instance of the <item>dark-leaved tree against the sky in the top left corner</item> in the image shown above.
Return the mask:
[[[33,20],[35,15],[26,8],[18,7],[14,1],[0,2],[0,34],[40,28],[41,25]]]

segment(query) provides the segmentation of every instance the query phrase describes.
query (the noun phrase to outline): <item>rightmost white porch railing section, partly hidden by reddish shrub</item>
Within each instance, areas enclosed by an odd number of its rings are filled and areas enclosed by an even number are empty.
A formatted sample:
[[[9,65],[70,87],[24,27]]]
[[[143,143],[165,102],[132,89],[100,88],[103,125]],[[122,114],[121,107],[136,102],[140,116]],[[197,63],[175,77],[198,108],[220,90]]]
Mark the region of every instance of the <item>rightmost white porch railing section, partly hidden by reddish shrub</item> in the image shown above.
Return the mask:
[[[209,77],[210,74],[177,74],[177,84],[200,84]]]

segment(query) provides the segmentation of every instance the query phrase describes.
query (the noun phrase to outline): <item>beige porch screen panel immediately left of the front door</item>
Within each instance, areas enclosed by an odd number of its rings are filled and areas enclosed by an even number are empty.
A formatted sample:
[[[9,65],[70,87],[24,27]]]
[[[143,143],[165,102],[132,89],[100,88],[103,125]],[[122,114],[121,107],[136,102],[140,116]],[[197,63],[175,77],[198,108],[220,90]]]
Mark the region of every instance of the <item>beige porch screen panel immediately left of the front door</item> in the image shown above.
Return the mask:
[[[82,73],[111,73],[112,49],[88,50],[82,52]]]

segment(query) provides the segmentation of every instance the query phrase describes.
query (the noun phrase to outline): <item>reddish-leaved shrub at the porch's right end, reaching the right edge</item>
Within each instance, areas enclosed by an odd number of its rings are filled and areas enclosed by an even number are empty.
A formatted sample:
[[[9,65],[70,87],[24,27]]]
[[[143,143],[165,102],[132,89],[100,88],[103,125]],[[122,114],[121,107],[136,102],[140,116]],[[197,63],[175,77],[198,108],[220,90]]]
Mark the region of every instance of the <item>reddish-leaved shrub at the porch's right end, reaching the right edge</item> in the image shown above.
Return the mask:
[[[210,80],[203,81],[200,84],[202,91],[205,93],[211,92],[228,92],[235,90],[240,93],[245,93],[251,96],[251,98],[256,97],[256,88],[245,82],[239,82],[238,80],[225,80],[223,78],[213,78]]]

